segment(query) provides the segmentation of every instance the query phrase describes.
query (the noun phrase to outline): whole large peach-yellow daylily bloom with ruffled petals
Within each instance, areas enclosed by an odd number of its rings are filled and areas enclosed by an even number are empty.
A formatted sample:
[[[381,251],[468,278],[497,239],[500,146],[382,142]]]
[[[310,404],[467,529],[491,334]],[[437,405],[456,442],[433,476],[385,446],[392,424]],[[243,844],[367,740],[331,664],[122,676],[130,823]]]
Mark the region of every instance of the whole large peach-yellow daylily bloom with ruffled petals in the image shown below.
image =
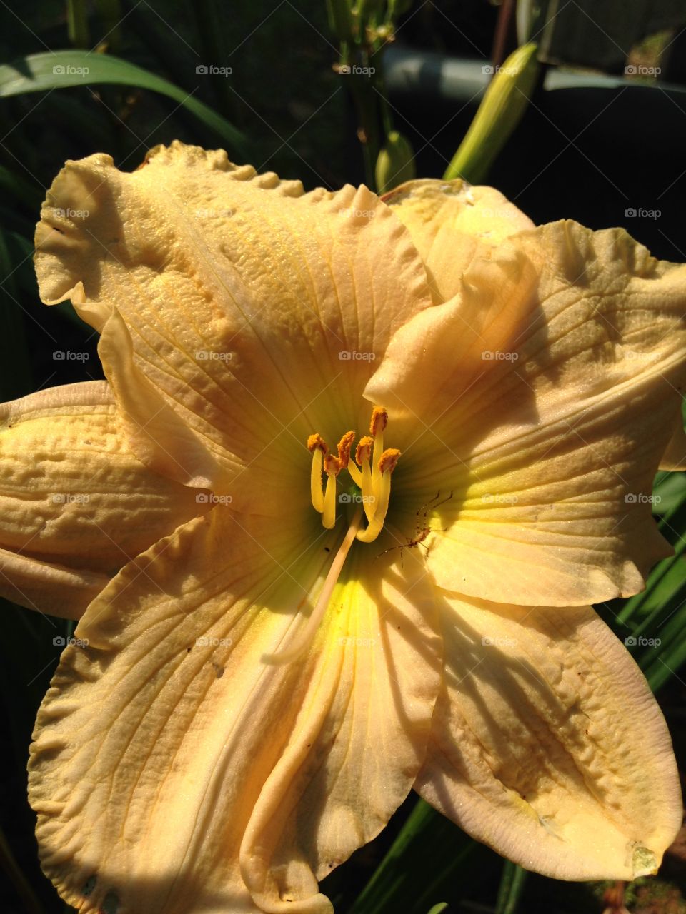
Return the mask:
[[[304,194],[180,143],[70,162],[36,262],[107,377],[0,435],[3,580],[80,616],[30,761],[62,898],[330,911],[412,788],[552,877],[656,870],[669,734],[588,604],[670,551],[686,267],[487,187]]]

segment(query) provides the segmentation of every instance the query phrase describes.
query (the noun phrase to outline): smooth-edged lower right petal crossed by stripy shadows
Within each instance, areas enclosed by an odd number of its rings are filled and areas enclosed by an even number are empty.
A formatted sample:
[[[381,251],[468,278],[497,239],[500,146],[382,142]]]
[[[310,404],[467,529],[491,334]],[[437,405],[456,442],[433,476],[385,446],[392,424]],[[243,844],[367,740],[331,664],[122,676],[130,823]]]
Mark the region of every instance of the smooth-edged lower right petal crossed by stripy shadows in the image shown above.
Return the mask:
[[[423,798],[546,876],[654,873],[681,826],[679,777],[624,646],[588,607],[440,602],[445,685]]]

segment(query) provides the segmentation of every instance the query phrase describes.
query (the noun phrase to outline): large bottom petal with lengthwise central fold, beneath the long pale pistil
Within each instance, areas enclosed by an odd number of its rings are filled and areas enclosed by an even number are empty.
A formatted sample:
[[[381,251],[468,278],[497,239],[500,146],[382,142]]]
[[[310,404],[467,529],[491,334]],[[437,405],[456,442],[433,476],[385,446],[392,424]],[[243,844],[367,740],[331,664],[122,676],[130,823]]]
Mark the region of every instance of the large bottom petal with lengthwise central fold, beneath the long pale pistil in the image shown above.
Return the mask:
[[[316,878],[411,789],[441,664],[423,564],[358,578],[355,551],[305,656],[264,661],[339,540],[219,505],[91,603],[30,763],[42,864],[81,914],[108,897],[225,914],[252,910],[249,890],[263,911],[331,910]]]

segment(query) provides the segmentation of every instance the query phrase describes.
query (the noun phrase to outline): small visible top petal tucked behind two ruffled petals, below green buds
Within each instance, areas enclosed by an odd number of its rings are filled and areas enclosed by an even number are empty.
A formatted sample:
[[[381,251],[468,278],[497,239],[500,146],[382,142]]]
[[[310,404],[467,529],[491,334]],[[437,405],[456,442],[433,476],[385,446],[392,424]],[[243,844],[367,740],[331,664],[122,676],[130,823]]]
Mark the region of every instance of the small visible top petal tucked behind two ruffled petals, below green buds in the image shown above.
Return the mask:
[[[471,186],[461,178],[408,181],[382,199],[410,229],[434,303],[447,302],[459,292],[462,274],[485,249],[534,228],[495,187]]]

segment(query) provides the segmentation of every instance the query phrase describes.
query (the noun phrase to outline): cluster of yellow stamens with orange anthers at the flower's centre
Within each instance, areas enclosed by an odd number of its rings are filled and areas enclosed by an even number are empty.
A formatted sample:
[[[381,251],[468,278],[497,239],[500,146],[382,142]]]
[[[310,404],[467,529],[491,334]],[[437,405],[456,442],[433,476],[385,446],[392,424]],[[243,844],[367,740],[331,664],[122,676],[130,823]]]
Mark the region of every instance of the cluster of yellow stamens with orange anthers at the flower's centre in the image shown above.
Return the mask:
[[[310,435],[307,450],[312,454],[310,490],[312,506],[322,515],[322,524],[330,530],[336,524],[338,476],[346,471],[359,488],[367,526],[356,532],[362,543],[373,542],[381,533],[391,502],[391,473],[401,452],[384,448],[388,412],[381,406],[371,410],[370,434],[359,440],[355,459],[351,458],[355,432],[347,431],[338,441],[336,453],[328,450],[321,435]],[[322,474],[326,483],[322,484]]]

